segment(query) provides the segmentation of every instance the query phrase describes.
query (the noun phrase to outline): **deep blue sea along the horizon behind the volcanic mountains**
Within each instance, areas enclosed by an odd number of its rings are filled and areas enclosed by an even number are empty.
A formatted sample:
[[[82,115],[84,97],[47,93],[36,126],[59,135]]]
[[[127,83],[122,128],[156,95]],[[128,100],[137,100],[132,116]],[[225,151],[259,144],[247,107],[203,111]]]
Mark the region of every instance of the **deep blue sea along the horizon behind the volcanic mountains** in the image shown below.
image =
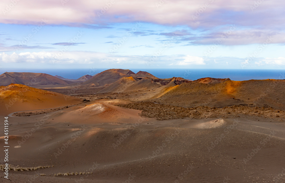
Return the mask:
[[[95,75],[107,69],[1,69],[4,72],[33,72],[59,75],[67,79],[78,79],[86,74]],[[285,79],[285,70],[275,69],[130,69],[137,73],[146,71],[158,78],[183,77],[196,80],[204,77],[230,78],[234,81],[250,79]]]

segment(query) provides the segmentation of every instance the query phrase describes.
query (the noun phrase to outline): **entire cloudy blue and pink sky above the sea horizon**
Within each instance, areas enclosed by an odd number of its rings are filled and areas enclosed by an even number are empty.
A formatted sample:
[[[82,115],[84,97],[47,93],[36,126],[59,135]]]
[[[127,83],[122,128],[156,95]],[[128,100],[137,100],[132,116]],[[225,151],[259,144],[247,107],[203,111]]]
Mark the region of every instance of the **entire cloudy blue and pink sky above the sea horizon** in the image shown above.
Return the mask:
[[[0,69],[285,69],[283,0],[1,0]]]

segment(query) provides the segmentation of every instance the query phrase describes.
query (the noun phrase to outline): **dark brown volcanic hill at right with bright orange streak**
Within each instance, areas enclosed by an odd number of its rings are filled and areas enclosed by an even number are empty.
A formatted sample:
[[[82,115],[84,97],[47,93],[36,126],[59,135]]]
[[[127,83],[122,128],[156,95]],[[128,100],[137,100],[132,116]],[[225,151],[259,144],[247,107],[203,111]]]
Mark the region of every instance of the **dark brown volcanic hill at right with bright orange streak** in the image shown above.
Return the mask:
[[[167,87],[153,98],[159,99],[162,103],[172,103],[183,107],[194,107],[196,104],[210,107],[246,104],[285,109],[285,104],[282,102],[285,100],[284,80],[231,81],[222,79],[220,83],[217,80],[211,80],[213,83],[207,79],[200,81]],[[180,100],[181,98],[183,100]]]

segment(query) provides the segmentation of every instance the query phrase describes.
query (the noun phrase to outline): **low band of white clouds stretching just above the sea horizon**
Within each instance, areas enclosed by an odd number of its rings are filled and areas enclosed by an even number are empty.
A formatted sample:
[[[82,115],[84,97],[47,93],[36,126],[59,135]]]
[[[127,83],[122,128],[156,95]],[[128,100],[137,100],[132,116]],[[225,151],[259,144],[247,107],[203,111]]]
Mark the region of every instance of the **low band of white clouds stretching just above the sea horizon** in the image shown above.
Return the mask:
[[[214,62],[213,62],[214,60]],[[16,64],[17,63],[17,64]],[[22,52],[0,54],[0,65],[6,68],[15,65],[29,65],[31,67],[54,67],[56,65],[66,65],[66,67],[139,67],[139,68],[219,68],[230,65],[231,68],[246,66],[262,66],[263,68],[285,66],[285,58],[255,58],[252,63],[249,60],[237,57],[197,57],[191,55],[161,55],[159,57],[149,55],[115,55],[101,52]],[[230,67],[229,66],[229,67]]]

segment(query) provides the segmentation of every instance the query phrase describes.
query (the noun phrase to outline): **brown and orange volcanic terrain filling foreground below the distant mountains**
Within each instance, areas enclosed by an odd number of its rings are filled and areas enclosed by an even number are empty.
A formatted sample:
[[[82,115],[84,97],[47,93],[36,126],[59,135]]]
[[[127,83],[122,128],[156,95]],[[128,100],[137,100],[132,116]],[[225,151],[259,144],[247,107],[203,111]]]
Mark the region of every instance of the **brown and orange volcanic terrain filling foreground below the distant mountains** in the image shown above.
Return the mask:
[[[285,182],[284,80],[124,72],[108,84],[1,86],[1,181]]]

